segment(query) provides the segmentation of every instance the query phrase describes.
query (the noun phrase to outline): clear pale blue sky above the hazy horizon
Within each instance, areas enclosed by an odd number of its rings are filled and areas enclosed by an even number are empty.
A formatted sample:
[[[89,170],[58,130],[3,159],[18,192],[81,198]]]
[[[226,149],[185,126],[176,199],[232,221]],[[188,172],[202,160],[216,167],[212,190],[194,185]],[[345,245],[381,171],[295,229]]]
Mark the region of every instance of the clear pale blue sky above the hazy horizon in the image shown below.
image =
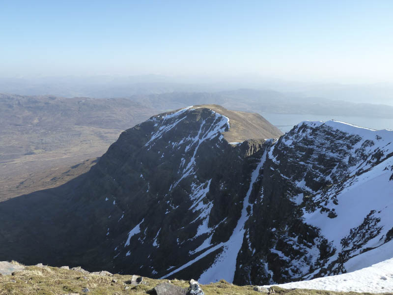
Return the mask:
[[[393,82],[393,1],[3,1],[0,77]]]

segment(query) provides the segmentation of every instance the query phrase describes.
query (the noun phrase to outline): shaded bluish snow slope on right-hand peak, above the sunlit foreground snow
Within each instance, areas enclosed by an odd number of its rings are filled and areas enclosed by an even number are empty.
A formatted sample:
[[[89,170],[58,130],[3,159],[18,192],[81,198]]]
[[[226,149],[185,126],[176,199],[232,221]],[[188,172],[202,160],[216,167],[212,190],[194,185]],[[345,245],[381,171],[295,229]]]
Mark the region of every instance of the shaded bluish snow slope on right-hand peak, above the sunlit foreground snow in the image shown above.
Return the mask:
[[[303,207],[305,223],[318,228],[336,249],[326,262],[330,273],[353,271],[392,258],[393,247],[387,247],[383,258],[362,259],[393,234],[393,131],[337,121],[319,128],[355,136],[347,151],[329,151],[329,157],[340,159],[326,177],[331,184],[312,195],[317,208]]]

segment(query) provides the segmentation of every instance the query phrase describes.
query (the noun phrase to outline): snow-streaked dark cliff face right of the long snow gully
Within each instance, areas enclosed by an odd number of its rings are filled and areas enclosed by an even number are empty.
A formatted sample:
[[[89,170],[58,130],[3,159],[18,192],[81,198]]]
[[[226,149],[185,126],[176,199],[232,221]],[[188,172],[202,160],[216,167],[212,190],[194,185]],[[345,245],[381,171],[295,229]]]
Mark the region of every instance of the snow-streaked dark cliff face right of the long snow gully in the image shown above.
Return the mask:
[[[302,122],[283,135],[255,188],[236,279],[281,283],[393,257],[387,245],[378,255],[393,226],[392,144],[393,131],[337,121]]]

